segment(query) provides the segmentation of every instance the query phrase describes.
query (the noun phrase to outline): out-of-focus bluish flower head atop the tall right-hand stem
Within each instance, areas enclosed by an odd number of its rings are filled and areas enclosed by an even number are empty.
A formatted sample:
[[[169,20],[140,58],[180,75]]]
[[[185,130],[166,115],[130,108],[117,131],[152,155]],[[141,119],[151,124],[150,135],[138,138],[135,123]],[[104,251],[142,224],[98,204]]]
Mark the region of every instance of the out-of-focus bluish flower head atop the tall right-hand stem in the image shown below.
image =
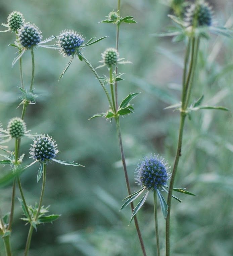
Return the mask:
[[[212,8],[206,2],[200,2],[197,4],[192,4],[190,8],[187,9],[185,21],[188,26],[211,26],[213,18]]]

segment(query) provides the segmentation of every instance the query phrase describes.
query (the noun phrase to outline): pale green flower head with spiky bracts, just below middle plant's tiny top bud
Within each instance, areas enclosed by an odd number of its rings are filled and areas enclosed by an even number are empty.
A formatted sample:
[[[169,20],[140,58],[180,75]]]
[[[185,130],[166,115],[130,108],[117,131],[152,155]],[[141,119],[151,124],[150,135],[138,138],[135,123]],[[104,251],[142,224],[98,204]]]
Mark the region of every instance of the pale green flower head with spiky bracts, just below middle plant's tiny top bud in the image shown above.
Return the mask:
[[[98,66],[97,68],[107,66],[109,69],[111,68],[112,65],[117,66],[118,64],[132,63],[130,61],[125,61],[124,58],[120,59],[119,53],[115,48],[108,48],[101,55],[102,55],[102,60],[99,61],[99,63],[104,63],[104,64]]]

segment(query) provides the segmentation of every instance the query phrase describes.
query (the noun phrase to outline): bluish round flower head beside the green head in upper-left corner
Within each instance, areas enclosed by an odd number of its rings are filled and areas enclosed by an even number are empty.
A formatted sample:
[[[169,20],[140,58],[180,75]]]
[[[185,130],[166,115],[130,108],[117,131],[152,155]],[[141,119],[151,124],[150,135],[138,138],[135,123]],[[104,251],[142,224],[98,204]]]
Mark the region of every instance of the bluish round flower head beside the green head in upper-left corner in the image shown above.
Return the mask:
[[[32,49],[41,42],[41,31],[34,24],[26,24],[18,31],[18,40],[26,49]]]

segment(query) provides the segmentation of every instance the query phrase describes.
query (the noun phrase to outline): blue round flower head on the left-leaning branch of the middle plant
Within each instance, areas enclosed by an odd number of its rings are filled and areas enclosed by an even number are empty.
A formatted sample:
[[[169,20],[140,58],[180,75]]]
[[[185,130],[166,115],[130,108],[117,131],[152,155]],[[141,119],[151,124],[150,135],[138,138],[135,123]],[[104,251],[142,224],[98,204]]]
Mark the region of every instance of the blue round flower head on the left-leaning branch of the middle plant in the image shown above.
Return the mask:
[[[62,31],[58,37],[57,45],[61,48],[59,52],[63,56],[71,56],[79,53],[79,47],[83,43],[84,38],[76,31]]]

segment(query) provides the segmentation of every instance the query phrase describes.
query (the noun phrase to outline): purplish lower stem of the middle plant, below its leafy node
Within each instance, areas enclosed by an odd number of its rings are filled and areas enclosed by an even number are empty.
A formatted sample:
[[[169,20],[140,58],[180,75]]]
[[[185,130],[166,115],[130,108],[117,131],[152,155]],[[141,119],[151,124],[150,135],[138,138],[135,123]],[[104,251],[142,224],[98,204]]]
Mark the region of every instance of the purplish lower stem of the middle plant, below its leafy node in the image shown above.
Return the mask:
[[[128,177],[127,168],[126,168],[125,154],[124,154],[123,144],[122,144],[122,136],[121,136],[121,127],[120,127],[119,117],[115,118],[115,120],[116,120],[116,127],[117,127],[120,150],[121,150],[121,156],[122,156],[122,164],[123,164],[124,173],[125,173],[126,187],[127,187],[127,190],[128,190],[128,194],[130,195],[131,190],[130,190],[129,177]],[[130,206],[131,206],[131,210],[133,212],[134,211],[133,202],[131,202]],[[144,243],[143,243],[143,239],[142,239],[141,231],[140,231],[140,228],[139,228],[137,216],[134,217],[134,223],[135,223],[135,227],[136,227],[136,230],[137,230],[137,233],[138,233],[138,238],[139,238],[139,241],[140,241],[140,245],[141,245],[143,255],[146,256],[145,246],[144,246]]]

